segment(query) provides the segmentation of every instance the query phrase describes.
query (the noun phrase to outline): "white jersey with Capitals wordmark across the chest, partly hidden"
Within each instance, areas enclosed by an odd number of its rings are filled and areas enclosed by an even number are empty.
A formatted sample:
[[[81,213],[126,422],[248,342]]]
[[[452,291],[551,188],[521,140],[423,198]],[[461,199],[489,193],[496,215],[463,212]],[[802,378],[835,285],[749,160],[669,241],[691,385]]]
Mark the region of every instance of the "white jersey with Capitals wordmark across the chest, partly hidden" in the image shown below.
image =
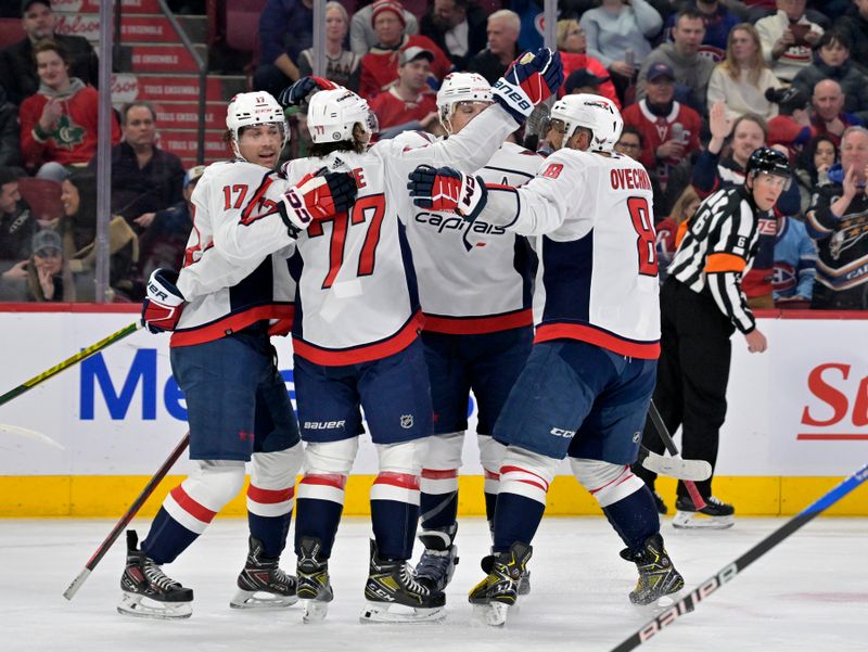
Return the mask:
[[[475,174],[520,187],[542,158],[506,142]],[[407,222],[425,331],[493,333],[532,325],[537,258],[527,239],[477,219],[416,208]]]

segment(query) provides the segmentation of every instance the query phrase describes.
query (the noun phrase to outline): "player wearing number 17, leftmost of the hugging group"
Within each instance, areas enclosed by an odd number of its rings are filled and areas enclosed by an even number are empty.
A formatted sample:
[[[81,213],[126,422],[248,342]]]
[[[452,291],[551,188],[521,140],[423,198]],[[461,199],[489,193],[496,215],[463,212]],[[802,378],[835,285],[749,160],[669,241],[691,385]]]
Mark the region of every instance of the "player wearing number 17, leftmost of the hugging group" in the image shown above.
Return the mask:
[[[193,231],[180,274],[156,270],[148,283],[142,319],[152,332],[174,331],[171,368],[183,392],[190,457],[199,469],[175,487],[148,537],[128,532],[120,580],[123,614],[182,618],[192,613],[192,589],[169,578],[174,561],[241,490],[245,462],[250,552],[230,605],[283,608],[294,603],[296,583],[280,570],[302,464],[298,426],[278,372],[271,335],[285,335],[294,286],[286,257],[294,239],[278,209],[292,191],[311,206],[344,210],[355,197],[346,175],[291,189],[272,168],[286,142],[283,110],[268,93],[241,93],[229,103],[227,127],[235,159],[215,163],[193,192]],[[330,192],[334,191],[334,194]],[[331,207],[327,206],[331,199]],[[283,207],[285,213],[285,207]],[[275,222],[265,252],[251,225]]]

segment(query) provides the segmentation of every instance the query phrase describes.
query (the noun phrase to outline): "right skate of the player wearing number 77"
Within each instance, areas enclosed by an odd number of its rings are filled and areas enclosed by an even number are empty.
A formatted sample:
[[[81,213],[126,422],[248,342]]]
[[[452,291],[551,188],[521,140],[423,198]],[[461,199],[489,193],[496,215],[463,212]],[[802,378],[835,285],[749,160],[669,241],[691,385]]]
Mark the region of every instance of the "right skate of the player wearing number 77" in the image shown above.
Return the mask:
[[[373,540],[365,598],[368,604],[359,616],[362,623],[433,623],[446,617],[443,591],[432,591],[417,581],[406,561],[380,559]]]

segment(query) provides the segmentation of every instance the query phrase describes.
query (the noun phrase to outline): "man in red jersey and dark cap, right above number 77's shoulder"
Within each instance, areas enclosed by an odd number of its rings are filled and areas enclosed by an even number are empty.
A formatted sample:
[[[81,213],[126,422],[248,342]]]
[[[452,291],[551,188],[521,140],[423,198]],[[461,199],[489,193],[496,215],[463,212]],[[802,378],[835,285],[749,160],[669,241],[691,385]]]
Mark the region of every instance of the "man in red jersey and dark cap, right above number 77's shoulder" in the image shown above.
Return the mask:
[[[381,138],[408,129],[427,129],[437,123],[437,102],[426,82],[434,54],[422,48],[407,48],[398,61],[397,81],[370,103],[380,123]]]

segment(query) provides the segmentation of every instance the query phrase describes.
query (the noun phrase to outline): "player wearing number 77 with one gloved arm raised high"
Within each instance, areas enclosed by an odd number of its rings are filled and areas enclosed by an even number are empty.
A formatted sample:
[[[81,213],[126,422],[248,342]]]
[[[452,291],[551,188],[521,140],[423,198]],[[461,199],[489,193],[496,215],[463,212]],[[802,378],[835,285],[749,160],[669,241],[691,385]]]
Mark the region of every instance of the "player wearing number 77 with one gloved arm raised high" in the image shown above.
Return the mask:
[[[307,619],[323,617],[332,599],[328,560],[358,449],[360,407],[380,461],[371,488],[374,537],[361,618],[445,615],[443,592],[418,583],[407,563],[419,516],[421,461],[433,427],[405,230],[413,213],[407,176],[422,163],[481,168],[533,105],[560,84],[557,53],[540,50],[522,61],[500,79],[496,107],[455,138],[418,149],[390,140],[368,149],[372,113],[367,102],[331,82],[308,77],[282,95],[288,103],[301,103],[314,91],[307,110],[311,156],[286,166],[288,179],[294,182],[324,167],[352,174],[358,187],[350,210],[312,220],[299,234],[291,260],[298,284],[294,381],[306,443],[295,547]]]

